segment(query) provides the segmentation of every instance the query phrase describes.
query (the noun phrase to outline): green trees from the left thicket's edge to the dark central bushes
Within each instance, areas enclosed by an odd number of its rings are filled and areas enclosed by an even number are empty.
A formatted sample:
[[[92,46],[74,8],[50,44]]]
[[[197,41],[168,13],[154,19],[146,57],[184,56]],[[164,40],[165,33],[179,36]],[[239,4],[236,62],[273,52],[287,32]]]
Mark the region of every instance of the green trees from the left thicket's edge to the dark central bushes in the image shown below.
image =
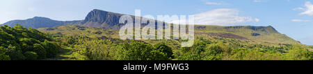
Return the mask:
[[[170,60],[172,48],[166,44],[151,44],[143,41],[121,39],[99,39],[86,36],[67,37],[62,44],[68,44],[75,58],[86,60]],[[78,58],[81,57],[81,58]]]

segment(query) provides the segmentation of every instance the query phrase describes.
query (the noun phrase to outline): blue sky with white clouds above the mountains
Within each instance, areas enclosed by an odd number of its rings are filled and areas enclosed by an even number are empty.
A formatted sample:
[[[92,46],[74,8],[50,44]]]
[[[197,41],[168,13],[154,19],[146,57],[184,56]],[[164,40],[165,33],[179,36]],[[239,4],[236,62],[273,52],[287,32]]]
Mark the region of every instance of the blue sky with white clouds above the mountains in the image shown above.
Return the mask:
[[[202,24],[273,26],[313,45],[313,0],[4,0],[0,24],[35,16],[81,20],[93,9],[134,15],[198,15]]]

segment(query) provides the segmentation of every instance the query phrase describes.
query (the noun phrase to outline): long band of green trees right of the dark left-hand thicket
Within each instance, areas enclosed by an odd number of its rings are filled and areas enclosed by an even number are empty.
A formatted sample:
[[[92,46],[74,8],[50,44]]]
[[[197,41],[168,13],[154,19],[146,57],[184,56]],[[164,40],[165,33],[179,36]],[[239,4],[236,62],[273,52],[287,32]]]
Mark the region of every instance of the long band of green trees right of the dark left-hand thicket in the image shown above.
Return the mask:
[[[177,50],[169,43],[148,44],[144,41],[99,39],[86,36],[66,37],[77,57],[87,60],[312,60],[313,53],[300,44],[264,46],[240,44],[241,41],[196,39],[192,47]],[[179,44],[177,45],[179,46]],[[175,52],[174,52],[175,51]],[[77,58],[78,59],[78,58]]]

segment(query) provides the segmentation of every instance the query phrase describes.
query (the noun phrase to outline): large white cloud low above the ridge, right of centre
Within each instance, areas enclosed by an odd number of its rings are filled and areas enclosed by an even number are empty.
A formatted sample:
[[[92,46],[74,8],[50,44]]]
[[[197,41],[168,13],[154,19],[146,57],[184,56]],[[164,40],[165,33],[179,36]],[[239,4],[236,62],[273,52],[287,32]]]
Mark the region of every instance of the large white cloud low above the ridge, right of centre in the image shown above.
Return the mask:
[[[227,26],[233,24],[243,24],[250,21],[259,21],[259,19],[253,19],[252,17],[239,16],[239,10],[220,8],[215,10],[209,10],[196,14],[195,24],[197,25],[219,25]],[[172,21],[170,23],[179,24],[179,21]]]

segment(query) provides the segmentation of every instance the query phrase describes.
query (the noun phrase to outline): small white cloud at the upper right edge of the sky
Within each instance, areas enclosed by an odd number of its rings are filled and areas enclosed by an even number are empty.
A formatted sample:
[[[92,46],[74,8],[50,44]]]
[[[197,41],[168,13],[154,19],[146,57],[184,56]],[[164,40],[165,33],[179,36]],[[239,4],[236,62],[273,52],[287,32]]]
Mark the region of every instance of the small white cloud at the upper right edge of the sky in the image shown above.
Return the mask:
[[[300,15],[313,16],[313,5],[310,1],[305,2],[305,8],[298,8],[298,9],[304,10],[304,12],[300,12]]]

